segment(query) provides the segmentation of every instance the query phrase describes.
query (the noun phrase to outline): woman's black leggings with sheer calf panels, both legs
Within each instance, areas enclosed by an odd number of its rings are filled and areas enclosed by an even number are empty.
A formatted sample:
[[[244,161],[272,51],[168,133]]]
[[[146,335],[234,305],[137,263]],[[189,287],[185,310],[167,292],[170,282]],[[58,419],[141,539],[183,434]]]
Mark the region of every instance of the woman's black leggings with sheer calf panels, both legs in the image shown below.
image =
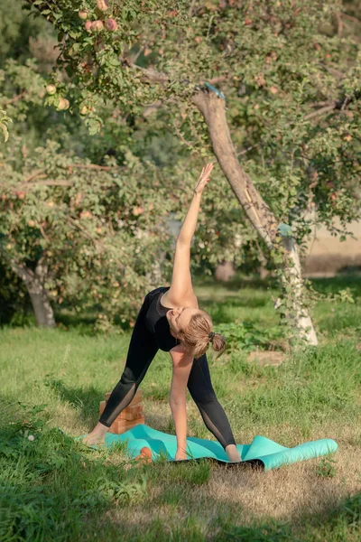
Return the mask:
[[[116,416],[132,401],[136,389],[158,351],[154,335],[148,330],[145,323],[148,308],[149,298],[146,296],[134,325],[122,378],[113,389],[106,403],[106,408],[99,418],[99,422],[106,427],[110,427]],[[206,354],[198,360],[193,360],[188,389],[199,407],[205,425],[215,435],[219,443],[224,448],[228,444],[236,444],[226,413],[220,406],[212,387]]]

